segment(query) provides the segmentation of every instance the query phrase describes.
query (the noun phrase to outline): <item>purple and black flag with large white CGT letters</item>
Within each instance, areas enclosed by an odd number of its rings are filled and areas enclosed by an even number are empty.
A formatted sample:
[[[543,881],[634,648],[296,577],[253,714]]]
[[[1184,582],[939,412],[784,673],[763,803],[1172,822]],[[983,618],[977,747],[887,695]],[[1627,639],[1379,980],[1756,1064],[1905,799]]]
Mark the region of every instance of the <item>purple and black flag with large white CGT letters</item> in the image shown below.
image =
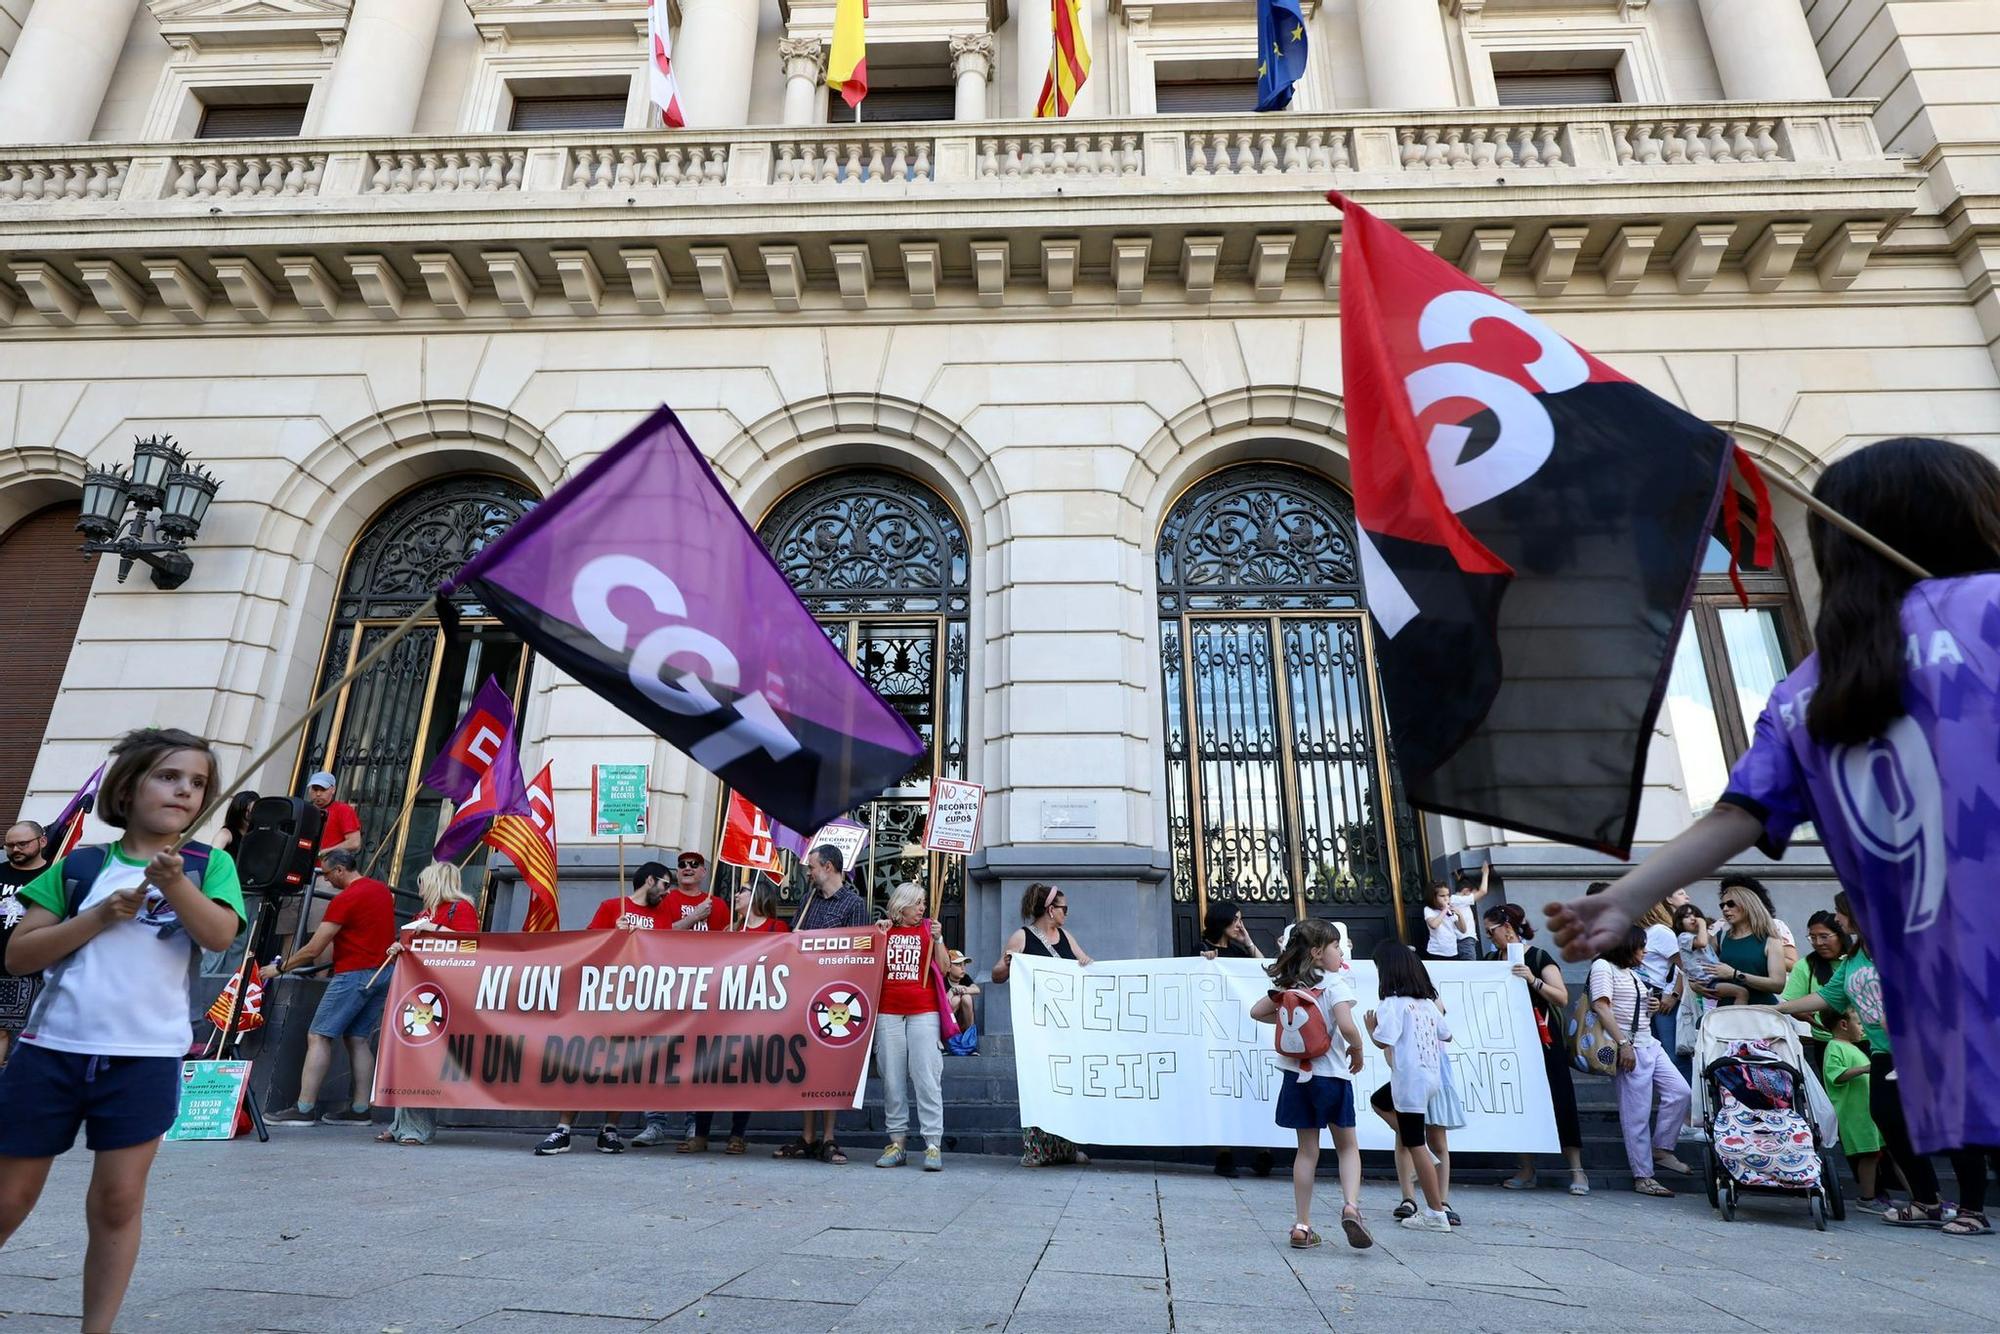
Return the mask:
[[[672,408],[440,586],[794,830],[876,796],[924,744],[798,600]]]

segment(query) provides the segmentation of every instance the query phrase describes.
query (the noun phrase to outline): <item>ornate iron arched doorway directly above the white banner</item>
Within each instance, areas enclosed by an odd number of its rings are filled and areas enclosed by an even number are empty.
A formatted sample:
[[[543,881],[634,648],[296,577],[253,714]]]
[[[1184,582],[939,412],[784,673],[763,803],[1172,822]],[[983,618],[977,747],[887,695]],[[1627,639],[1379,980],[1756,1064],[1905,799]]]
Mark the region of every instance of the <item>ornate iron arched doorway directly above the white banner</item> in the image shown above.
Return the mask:
[[[1158,542],[1174,946],[1214,900],[1258,944],[1298,916],[1398,936],[1422,836],[1390,766],[1354,504],[1298,468],[1196,482]]]

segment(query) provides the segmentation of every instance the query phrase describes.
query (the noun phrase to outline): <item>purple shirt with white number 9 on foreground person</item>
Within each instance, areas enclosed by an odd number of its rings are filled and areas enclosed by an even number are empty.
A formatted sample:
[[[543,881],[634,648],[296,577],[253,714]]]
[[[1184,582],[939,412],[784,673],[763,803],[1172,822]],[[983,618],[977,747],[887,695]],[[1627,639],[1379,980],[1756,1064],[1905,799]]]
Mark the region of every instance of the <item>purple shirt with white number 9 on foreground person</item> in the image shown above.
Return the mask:
[[[2000,574],[1926,580],[1902,604],[1908,716],[1820,746],[1806,658],[1770,696],[1724,802],[1784,852],[1808,820],[1882,976],[1918,1152],[2000,1144]]]

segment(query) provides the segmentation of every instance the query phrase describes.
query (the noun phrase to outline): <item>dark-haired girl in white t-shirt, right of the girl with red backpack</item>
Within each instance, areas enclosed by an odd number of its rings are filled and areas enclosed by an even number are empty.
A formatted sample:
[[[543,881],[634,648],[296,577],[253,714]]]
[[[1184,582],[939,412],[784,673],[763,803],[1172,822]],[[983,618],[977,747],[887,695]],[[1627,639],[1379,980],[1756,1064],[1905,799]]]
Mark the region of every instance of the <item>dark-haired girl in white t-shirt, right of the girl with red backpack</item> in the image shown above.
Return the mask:
[[[1396,1130],[1410,1150],[1424,1208],[1402,1220],[1404,1228],[1450,1232],[1438,1184],[1438,1164],[1426,1146],[1424,1110],[1444,1082],[1444,1044],[1452,1030],[1438,1008],[1438,988],[1430,984],[1424,960],[1410,946],[1384,940],[1374,952],[1376,992],[1382,1002],[1368,1012],[1368,1036],[1388,1054],[1388,1084],[1374,1092],[1370,1106]]]

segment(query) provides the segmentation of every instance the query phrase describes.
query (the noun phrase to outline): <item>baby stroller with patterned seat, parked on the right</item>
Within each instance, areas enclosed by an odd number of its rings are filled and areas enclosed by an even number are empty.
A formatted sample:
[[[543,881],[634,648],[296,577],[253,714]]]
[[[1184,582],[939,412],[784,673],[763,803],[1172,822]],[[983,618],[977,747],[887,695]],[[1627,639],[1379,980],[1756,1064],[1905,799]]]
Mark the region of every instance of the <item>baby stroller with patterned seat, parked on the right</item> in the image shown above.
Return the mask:
[[[1770,1006],[1724,1006],[1702,1016],[1694,1064],[1708,1128],[1708,1202],[1724,1218],[1736,1218],[1736,1198],[1746,1190],[1806,1196],[1820,1232],[1828,1214],[1836,1222],[1848,1216],[1804,1060],[1798,1024]]]

